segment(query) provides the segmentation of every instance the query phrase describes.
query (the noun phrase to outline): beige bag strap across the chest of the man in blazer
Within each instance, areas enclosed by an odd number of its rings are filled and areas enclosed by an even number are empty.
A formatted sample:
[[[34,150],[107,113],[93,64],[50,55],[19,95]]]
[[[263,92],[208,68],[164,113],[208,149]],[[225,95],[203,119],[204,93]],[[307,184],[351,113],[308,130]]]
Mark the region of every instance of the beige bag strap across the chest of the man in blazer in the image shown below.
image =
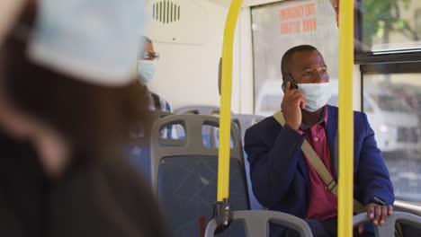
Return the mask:
[[[275,118],[283,127],[285,124],[285,118],[283,118],[282,111],[277,111],[273,114],[273,118]],[[318,154],[314,151],[314,149],[309,145],[307,140],[304,140],[304,143],[301,146],[302,152],[306,155],[307,159],[311,165],[313,165],[314,169],[318,172],[318,176],[323,180],[326,184],[327,189],[331,191],[337,197],[337,183],[336,180],[332,177],[332,174],[327,170],[326,165],[320,160]],[[363,213],[365,212],[364,206],[354,199],[354,213]]]

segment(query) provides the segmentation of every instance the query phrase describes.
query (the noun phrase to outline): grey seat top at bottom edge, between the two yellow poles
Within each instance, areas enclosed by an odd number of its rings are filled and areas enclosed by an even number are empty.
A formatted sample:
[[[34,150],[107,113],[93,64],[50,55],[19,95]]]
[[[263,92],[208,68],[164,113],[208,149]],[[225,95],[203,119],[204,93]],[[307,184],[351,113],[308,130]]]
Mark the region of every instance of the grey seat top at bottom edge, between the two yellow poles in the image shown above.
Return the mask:
[[[300,236],[312,237],[309,224],[304,220],[282,212],[274,211],[236,211],[232,214],[233,222],[240,222],[246,228],[246,236],[269,236],[269,223],[282,224],[296,230]],[[217,229],[215,220],[206,227],[205,237],[215,236]]]

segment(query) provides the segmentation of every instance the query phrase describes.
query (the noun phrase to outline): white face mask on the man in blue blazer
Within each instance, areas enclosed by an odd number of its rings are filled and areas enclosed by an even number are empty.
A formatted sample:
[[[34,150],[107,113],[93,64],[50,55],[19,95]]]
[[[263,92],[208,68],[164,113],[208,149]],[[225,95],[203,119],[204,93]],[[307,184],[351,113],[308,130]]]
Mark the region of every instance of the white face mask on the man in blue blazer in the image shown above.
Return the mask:
[[[304,110],[315,112],[325,106],[332,96],[330,83],[299,83],[299,89],[306,95]]]

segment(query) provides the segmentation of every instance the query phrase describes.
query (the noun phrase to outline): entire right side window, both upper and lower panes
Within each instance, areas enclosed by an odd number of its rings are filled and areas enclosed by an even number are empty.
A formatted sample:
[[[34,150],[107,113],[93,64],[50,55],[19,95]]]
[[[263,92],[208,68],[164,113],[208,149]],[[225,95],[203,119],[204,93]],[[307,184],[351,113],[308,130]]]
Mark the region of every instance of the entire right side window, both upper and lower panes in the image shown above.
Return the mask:
[[[421,203],[421,2],[358,3],[355,59],[363,73],[363,110],[396,198]]]

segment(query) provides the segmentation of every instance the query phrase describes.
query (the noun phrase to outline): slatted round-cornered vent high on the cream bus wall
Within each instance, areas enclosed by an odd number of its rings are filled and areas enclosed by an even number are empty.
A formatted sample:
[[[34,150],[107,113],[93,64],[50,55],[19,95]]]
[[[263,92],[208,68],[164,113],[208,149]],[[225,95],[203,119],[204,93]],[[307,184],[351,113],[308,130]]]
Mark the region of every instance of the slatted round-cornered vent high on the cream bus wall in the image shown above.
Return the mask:
[[[165,24],[180,21],[180,5],[170,1],[157,2],[152,5],[152,18]]]

